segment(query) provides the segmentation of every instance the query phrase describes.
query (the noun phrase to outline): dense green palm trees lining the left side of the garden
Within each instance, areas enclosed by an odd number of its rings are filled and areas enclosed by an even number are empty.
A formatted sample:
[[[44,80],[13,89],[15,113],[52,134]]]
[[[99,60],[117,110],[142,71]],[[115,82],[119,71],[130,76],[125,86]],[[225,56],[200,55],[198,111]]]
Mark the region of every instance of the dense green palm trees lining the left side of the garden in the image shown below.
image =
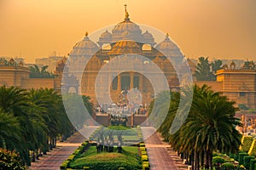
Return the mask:
[[[0,87],[0,148],[16,150],[26,165],[74,132],[54,89]]]

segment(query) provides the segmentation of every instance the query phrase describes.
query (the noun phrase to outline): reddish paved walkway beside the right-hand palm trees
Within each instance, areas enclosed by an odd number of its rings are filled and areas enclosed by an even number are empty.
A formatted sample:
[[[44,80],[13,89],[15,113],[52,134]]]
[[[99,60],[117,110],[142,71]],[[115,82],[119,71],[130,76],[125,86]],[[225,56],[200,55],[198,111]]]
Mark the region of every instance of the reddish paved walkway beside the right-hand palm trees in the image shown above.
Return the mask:
[[[170,144],[162,142],[160,134],[154,133],[154,127],[142,127],[143,137],[148,150],[150,170],[188,169],[171,149]],[[154,133],[150,136],[151,133]]]

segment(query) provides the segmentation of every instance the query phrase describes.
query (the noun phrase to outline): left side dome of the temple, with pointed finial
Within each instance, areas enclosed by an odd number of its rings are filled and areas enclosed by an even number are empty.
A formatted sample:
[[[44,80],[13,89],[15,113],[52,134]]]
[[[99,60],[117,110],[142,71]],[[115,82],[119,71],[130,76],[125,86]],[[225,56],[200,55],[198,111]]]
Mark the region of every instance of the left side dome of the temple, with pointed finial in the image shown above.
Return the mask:
[[[90,56],[96,54],[99,50],[99,47],[95,42],[92,42],[88,37],[88,33],[86,32],[85,37],[82,41],[76,43],[73,47],[73,50],[70,53],[70,57],[74,56]]]

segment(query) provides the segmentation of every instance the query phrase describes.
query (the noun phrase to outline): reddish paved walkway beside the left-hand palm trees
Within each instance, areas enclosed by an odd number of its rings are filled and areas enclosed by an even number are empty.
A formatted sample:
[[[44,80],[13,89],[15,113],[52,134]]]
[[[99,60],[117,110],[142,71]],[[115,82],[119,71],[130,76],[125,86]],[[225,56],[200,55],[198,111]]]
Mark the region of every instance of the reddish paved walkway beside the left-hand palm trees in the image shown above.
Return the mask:
[[[84,136],[90,136],[96,130],[96,126],[84,127],[80,133],[75,133],[66,142],[57,143],[54,150],[47,152],[46,156],[39,157],[39,160],[32,162],[29,169],[32,170],[59,170],[62,161],[65,161],[73,150],[84,142]],[[82,134],[84,134],[84,136]]]

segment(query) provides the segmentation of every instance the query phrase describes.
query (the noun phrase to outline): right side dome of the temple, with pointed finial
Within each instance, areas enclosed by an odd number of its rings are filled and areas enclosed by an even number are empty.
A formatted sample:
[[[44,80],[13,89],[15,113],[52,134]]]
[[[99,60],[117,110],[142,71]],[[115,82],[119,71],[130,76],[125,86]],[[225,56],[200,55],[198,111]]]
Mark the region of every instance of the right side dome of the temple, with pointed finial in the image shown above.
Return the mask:
[[[168,33],[166,34],[166,39],[157,44],[155,48],[168,57],[183,57],[177,45],[169,39]]]

